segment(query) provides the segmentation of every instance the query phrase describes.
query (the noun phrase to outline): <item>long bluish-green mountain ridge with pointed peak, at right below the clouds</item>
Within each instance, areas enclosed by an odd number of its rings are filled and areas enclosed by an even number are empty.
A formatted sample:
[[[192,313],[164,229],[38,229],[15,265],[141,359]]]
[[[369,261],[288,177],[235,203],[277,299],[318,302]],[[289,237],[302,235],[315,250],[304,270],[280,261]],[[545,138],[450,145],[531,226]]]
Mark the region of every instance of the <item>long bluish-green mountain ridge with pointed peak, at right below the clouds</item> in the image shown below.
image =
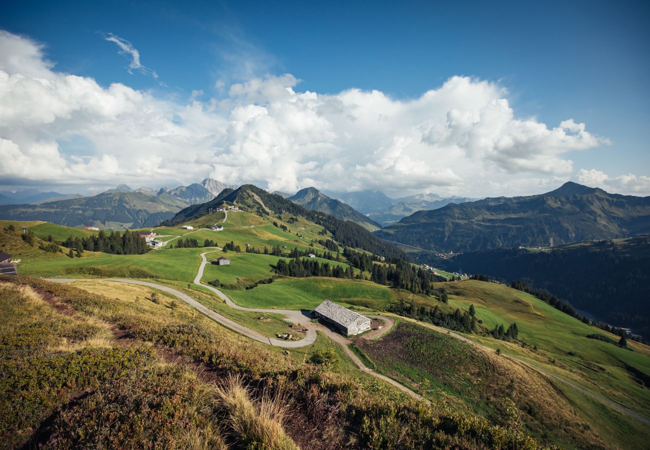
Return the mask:
[[[484,198],[418,211],[377,235],[438,252],[560,245],[650,232],[650,196],[610,194],[571,181],[523,197]]]

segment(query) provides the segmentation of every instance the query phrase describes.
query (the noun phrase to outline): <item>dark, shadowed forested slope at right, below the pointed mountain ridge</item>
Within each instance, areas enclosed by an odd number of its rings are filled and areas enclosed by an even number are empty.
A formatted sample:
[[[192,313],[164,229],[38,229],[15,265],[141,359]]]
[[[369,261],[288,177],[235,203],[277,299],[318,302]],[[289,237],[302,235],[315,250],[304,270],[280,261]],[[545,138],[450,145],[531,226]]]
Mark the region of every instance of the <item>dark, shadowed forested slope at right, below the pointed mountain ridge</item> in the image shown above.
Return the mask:
[[[526,280],[599,320],[650,337],[650,235],[471,252],[445,262],[509,282]]]

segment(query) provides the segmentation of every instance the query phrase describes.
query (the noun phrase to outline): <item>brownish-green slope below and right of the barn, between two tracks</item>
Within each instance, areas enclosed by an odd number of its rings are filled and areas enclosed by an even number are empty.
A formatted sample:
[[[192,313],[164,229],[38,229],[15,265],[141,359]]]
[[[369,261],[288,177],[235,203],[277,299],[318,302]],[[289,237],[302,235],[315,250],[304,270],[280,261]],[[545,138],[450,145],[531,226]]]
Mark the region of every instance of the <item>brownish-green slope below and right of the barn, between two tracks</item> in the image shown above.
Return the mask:
[[[498,420],[510,406],[503,399],[512,399],[530,431],[547,443],[592,448],[608,445],[551,379],[495,352],[403,321],[380,341],[357,338],[355,343],[378,371],[434,401],[442,398],[454,408]]]

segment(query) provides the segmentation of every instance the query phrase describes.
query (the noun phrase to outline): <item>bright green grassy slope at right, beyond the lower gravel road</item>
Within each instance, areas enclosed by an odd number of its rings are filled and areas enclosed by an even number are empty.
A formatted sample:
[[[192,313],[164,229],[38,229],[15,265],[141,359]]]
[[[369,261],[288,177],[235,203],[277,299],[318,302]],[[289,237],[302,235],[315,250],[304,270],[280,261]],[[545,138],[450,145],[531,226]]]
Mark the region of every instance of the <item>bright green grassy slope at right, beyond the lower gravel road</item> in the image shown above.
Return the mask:
[[[630,342],[631,350],[627,350],[586,338],[590,334],[607,334],[504,285],[475,280],[441,285],[447,288],[451,306],[467,310],[473,304],[476,316],[487,328],[517,323],[519,339],[526,347],[472,336],[476,341],[530,361],[650,417],[650,390],[634,371],[645,373],[645,377],[650,374],[650,347]],[[617,341],[617,336],[609,337]]]

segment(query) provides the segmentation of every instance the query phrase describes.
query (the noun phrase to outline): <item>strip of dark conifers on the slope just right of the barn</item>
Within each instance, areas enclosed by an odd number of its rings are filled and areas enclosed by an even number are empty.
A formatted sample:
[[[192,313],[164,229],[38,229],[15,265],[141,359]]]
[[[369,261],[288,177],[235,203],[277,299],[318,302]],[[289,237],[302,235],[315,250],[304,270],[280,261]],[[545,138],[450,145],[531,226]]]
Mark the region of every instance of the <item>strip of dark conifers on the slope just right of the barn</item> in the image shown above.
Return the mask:
[[[389,306],[387,311],[463,333],[475,332],[478,326],[477,324],[480,323],[474,314],[473,305],[470,306],[469,311],[461,312],[457,308],[453,313],[445,313],[437,305],[433,308],[429,306],[419,306],[416,308],[414,304],[407,304],[402,300],[400,303]]]

